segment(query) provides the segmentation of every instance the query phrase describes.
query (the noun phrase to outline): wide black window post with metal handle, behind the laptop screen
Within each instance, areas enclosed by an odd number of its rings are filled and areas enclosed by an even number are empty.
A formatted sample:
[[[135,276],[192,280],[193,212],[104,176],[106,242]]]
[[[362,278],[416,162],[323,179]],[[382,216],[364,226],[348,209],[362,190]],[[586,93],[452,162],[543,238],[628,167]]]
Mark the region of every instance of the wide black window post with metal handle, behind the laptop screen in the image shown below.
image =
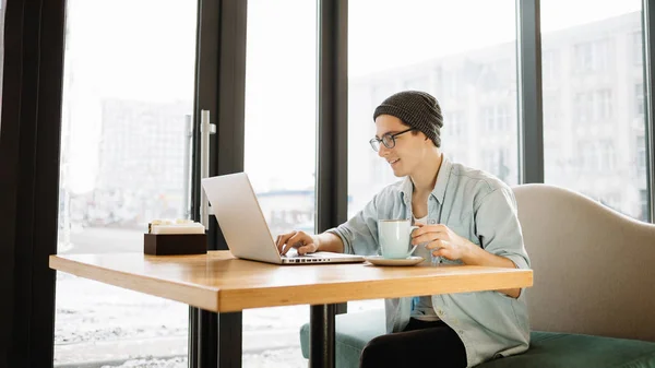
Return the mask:
[[[200,219],[200,118],[210,111],[216,133],[210,139],[210,176],[243,170],[246,106],[246,0],[199,0],[195,67],[192,218]],[[226,250],[210,216],[209,249]],[[241,358],[241,312],[214,313],[190,308],[189,367],[237,367]]]

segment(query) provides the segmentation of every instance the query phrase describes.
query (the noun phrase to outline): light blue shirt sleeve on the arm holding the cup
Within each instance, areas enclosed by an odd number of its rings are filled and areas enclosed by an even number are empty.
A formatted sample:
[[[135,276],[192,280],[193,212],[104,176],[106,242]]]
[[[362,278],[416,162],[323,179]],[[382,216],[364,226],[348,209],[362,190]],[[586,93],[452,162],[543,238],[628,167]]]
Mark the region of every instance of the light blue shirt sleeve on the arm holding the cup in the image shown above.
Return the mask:
[[[485,195],[478,203],[475,223],[480,245],[486,251],[508,258],[519,269],[529,269],[516,200],[510,188],[498,188]]]

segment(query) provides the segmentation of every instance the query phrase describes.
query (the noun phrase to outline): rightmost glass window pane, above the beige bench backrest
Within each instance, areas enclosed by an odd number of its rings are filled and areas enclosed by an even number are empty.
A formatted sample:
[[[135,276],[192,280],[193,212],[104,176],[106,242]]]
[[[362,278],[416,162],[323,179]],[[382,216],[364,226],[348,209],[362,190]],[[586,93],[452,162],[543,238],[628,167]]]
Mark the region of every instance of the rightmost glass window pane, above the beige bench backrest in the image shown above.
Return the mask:
[[[641,4],[541,2],[543,64],[562,61],[543,70],[544,161],[547,183],[646,221]]]

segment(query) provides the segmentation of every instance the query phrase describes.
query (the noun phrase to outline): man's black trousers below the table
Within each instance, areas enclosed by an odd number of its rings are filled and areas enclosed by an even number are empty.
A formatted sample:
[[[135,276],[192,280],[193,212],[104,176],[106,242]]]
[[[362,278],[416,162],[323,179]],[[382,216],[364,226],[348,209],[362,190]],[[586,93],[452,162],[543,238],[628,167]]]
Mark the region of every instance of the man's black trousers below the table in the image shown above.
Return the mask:
[[[371,340],[359,357],[360,368],[466,367],[466,351],[455,331],[442,321],[410,319],[402,332]]]

